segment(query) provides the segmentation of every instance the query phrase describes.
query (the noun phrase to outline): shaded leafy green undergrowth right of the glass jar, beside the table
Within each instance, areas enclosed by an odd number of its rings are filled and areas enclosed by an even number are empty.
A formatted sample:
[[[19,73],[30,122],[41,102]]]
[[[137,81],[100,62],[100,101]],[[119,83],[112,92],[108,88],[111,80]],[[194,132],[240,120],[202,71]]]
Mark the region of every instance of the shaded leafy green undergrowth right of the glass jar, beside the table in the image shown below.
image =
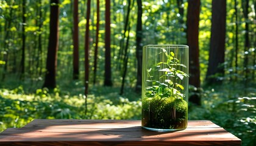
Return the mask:
[[[199,94],[202,97],[202,106],[190,104],[188,119],[211,120],[239,137],[242,145],[255,145],[256,89],[247,89],[247,96],[241,97],[242,88],[241,85],[227,83],[201,90]]]

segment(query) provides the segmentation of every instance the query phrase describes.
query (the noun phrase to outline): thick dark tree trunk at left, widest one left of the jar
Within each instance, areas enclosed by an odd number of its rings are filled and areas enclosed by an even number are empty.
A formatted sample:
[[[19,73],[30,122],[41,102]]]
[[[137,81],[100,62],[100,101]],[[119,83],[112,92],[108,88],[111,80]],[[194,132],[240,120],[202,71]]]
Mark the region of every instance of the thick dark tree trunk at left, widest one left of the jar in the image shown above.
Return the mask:
[[[50,35],[46,60],[46,76],[43,87],[56,87],[57,51],[59,47],[59,0],[51,0]]]

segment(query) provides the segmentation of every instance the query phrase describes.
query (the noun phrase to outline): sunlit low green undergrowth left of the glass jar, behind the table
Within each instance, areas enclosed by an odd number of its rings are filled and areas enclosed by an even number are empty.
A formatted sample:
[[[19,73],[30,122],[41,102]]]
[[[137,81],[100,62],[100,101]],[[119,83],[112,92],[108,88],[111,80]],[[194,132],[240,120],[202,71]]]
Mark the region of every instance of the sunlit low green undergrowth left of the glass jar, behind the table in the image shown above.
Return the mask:
[[[58,88],[53,92],[37,89],[32,94],[24,93],[22,86],[0,89],[0,131],[23,127],[33,119],[140,119],[140,100],[129,101],[118,92],[106,91],[100,92],[105,96],[91,94],[87,97],[88,113],[84,115],[85,96],[82,94],[70,96],[73,93],[61,92]],[[136,98],[139,99],[138,95]]]

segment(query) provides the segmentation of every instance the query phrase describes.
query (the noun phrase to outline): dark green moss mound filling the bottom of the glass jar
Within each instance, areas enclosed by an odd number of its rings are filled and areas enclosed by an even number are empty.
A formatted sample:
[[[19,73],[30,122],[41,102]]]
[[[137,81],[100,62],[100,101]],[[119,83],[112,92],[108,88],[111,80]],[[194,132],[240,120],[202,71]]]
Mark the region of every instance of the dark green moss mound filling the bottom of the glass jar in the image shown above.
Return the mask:
[[[188,103],[185,100],[155,96],[142,102],[143,126],[164,129],[187,127]]]

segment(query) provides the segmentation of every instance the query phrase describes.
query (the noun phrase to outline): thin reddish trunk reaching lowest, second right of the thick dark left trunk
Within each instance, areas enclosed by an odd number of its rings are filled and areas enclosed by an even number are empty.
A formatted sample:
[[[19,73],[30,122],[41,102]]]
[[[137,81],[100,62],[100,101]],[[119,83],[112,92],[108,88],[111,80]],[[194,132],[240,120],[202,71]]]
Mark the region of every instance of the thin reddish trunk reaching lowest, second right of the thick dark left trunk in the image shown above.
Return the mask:
[[[87,1],[87,15],[86,15],[87,21],[86,21],[86,30],[85,30],[85,96],[87,96],[87,94],[88,94],[88,87],[89,87],[90,13],[91,13],[91,0],[88,0]]]

